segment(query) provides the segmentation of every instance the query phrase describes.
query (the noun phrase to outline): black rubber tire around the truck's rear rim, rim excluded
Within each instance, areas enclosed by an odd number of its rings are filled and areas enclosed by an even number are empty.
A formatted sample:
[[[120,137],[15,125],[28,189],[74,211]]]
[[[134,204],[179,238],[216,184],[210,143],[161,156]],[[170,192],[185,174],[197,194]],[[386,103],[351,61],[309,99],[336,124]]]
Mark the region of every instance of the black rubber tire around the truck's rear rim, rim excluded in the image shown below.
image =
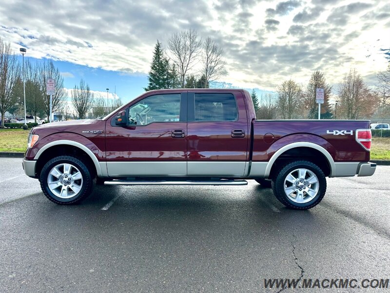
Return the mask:
[[[316,195],[306,203],[297,203],[289,198],[284,190],[286,177],[295,169],[305,168],[317,176],[318,179],[318,191]],[[308,185],[309,186],[309,185]],[[315,164],[308,161],[295,161],[282,167],[277,176],[272,181],[272,189],[276,198],[287,208],[290,209],[311,209],[318,205],[326,192],[326,177],[324,172]],[[305,188],[306,189],[306,188]]]

